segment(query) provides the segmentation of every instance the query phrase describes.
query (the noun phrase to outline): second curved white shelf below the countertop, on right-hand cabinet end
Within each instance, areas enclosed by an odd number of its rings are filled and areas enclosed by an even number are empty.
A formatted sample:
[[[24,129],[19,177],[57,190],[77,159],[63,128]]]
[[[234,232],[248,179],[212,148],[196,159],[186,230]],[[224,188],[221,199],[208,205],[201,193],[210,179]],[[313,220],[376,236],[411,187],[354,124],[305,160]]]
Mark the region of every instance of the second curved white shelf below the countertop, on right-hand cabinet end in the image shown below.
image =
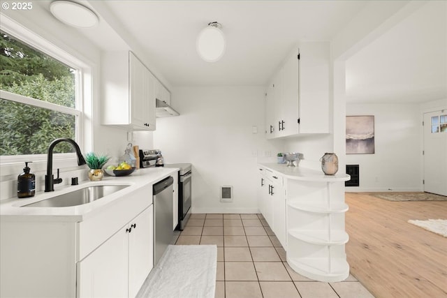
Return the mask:
[[[289,229],[291,237],[317,245],[342,245],[349,241],[349,235],[344,230],[299,230]]]

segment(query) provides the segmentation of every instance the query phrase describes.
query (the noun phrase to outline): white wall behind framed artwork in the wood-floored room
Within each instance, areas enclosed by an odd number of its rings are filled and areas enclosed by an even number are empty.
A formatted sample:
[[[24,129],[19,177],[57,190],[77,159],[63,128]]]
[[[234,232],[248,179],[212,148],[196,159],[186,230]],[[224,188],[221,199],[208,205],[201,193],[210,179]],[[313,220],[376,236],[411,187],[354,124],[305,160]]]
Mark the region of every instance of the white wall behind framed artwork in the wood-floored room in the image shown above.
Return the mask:
[[[347,154],[360,187],[346,191],[423,191],[422,115],[418,104],[346,104],[346,115],[374,115],[374,154]]]

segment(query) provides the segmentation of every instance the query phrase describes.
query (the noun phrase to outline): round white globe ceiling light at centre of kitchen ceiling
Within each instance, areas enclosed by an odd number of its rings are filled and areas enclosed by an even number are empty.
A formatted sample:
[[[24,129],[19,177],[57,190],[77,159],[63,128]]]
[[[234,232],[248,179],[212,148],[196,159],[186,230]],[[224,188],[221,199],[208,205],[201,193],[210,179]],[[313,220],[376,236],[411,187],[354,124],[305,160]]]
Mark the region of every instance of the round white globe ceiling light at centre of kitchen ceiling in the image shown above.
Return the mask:
[[[225,52],[226,42],[221,27],[218,22],[211,22],[198,35],[197,52],[207,62],[218,61]]]

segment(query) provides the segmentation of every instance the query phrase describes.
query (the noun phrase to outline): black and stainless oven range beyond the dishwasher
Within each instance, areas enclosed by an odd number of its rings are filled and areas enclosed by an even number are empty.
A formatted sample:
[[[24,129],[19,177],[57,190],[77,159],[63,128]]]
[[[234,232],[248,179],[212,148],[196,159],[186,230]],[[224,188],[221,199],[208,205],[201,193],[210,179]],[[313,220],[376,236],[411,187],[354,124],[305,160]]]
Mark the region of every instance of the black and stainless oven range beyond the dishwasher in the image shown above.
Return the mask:
[[[191,163],[168,163],[164,167],[178,167],[179,170],[179,223],[177,230],[183,230],[191,215]]]

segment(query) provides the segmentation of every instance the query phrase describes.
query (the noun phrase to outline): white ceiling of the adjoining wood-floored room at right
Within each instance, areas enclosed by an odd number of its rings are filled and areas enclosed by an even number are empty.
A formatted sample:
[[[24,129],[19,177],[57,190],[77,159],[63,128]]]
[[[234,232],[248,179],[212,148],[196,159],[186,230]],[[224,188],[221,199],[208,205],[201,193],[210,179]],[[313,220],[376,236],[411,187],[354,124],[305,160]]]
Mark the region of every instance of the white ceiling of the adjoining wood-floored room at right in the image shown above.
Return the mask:
[[[346,60],[348,103],[447,98],[447,1],[428,1]]]

